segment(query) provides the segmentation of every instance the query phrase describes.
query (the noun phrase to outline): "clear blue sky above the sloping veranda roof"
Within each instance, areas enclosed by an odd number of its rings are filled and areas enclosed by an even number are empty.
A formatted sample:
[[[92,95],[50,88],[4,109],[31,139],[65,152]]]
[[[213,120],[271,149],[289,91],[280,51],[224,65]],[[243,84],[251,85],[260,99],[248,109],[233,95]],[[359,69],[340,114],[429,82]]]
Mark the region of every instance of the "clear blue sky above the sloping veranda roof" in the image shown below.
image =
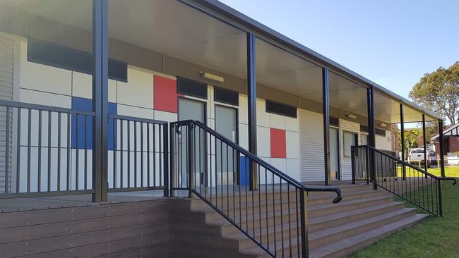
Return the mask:
[[[457,0],[220,1],[403,97],[459,61]]]

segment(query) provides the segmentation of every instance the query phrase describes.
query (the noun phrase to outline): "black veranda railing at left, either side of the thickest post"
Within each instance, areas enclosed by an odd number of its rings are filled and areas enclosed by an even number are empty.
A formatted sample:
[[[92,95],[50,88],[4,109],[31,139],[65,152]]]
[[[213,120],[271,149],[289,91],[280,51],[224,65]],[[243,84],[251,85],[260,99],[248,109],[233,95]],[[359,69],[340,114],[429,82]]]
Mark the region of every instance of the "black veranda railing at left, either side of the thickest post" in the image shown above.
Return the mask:
[[[0,198],[93,187],[95,113],[0,100]],[[168,190],[167,122],[109,116],[108,192]]]

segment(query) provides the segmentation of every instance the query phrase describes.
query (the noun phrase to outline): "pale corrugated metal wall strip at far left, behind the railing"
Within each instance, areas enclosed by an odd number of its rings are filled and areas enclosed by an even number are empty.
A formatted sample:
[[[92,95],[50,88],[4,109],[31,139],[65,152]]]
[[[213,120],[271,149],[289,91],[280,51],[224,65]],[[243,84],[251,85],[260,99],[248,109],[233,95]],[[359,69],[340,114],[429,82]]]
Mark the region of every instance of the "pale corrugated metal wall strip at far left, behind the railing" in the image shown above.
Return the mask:
[[[13,61],[14,40],[0,36],[0,99],[13,100]],[[10,123],[11,124],[11,123]],[[5,137],[6,137],[6,108],[0,107],[0,192],[5,191],[5,179],[11,182],[11,173],[5,178]],[[10,141],[11,142],[11,136]],[[10,145],[11,146],[11,145]],[[11,171],[11,147],[8,166]],[[11,185],[9,183],[8,185]],[[8,191],[11,190],[8,187]]]

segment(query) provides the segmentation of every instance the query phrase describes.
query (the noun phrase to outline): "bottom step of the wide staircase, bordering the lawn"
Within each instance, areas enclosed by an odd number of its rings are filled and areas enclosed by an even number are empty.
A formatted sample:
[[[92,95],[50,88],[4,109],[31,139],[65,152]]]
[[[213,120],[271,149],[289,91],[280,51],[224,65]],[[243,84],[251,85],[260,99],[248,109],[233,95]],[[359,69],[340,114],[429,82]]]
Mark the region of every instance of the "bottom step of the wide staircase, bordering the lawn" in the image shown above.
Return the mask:
[[[374,228],[371,231],[366,231],[359,235],[354,235],[350,238],[344,238],[335,242],[330,242],[328,245],[323,245],[318,248],[309,250],[309,257],[311,258],[322,258],[322,257],[345,257],[352,252],[362,249],[368,245],[371,245],[376,240],[385,238],[395,231],[412,226],[418,223],[422,219],[426,218],[427,214],[415,214],[408,216],[400,221],[388,223],[384,226]]]

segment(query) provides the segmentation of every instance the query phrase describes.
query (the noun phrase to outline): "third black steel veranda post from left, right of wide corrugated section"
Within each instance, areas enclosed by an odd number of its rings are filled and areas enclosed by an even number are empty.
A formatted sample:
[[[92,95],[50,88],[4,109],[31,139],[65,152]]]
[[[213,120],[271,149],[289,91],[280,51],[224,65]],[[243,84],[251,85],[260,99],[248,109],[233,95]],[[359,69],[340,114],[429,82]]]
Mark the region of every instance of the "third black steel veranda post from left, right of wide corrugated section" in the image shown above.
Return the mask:
[[[330,96],[328,89],[328,68],[322,68],[322,104],[323,104],[323,168],[325,185],[331,185],[330,171]]]

